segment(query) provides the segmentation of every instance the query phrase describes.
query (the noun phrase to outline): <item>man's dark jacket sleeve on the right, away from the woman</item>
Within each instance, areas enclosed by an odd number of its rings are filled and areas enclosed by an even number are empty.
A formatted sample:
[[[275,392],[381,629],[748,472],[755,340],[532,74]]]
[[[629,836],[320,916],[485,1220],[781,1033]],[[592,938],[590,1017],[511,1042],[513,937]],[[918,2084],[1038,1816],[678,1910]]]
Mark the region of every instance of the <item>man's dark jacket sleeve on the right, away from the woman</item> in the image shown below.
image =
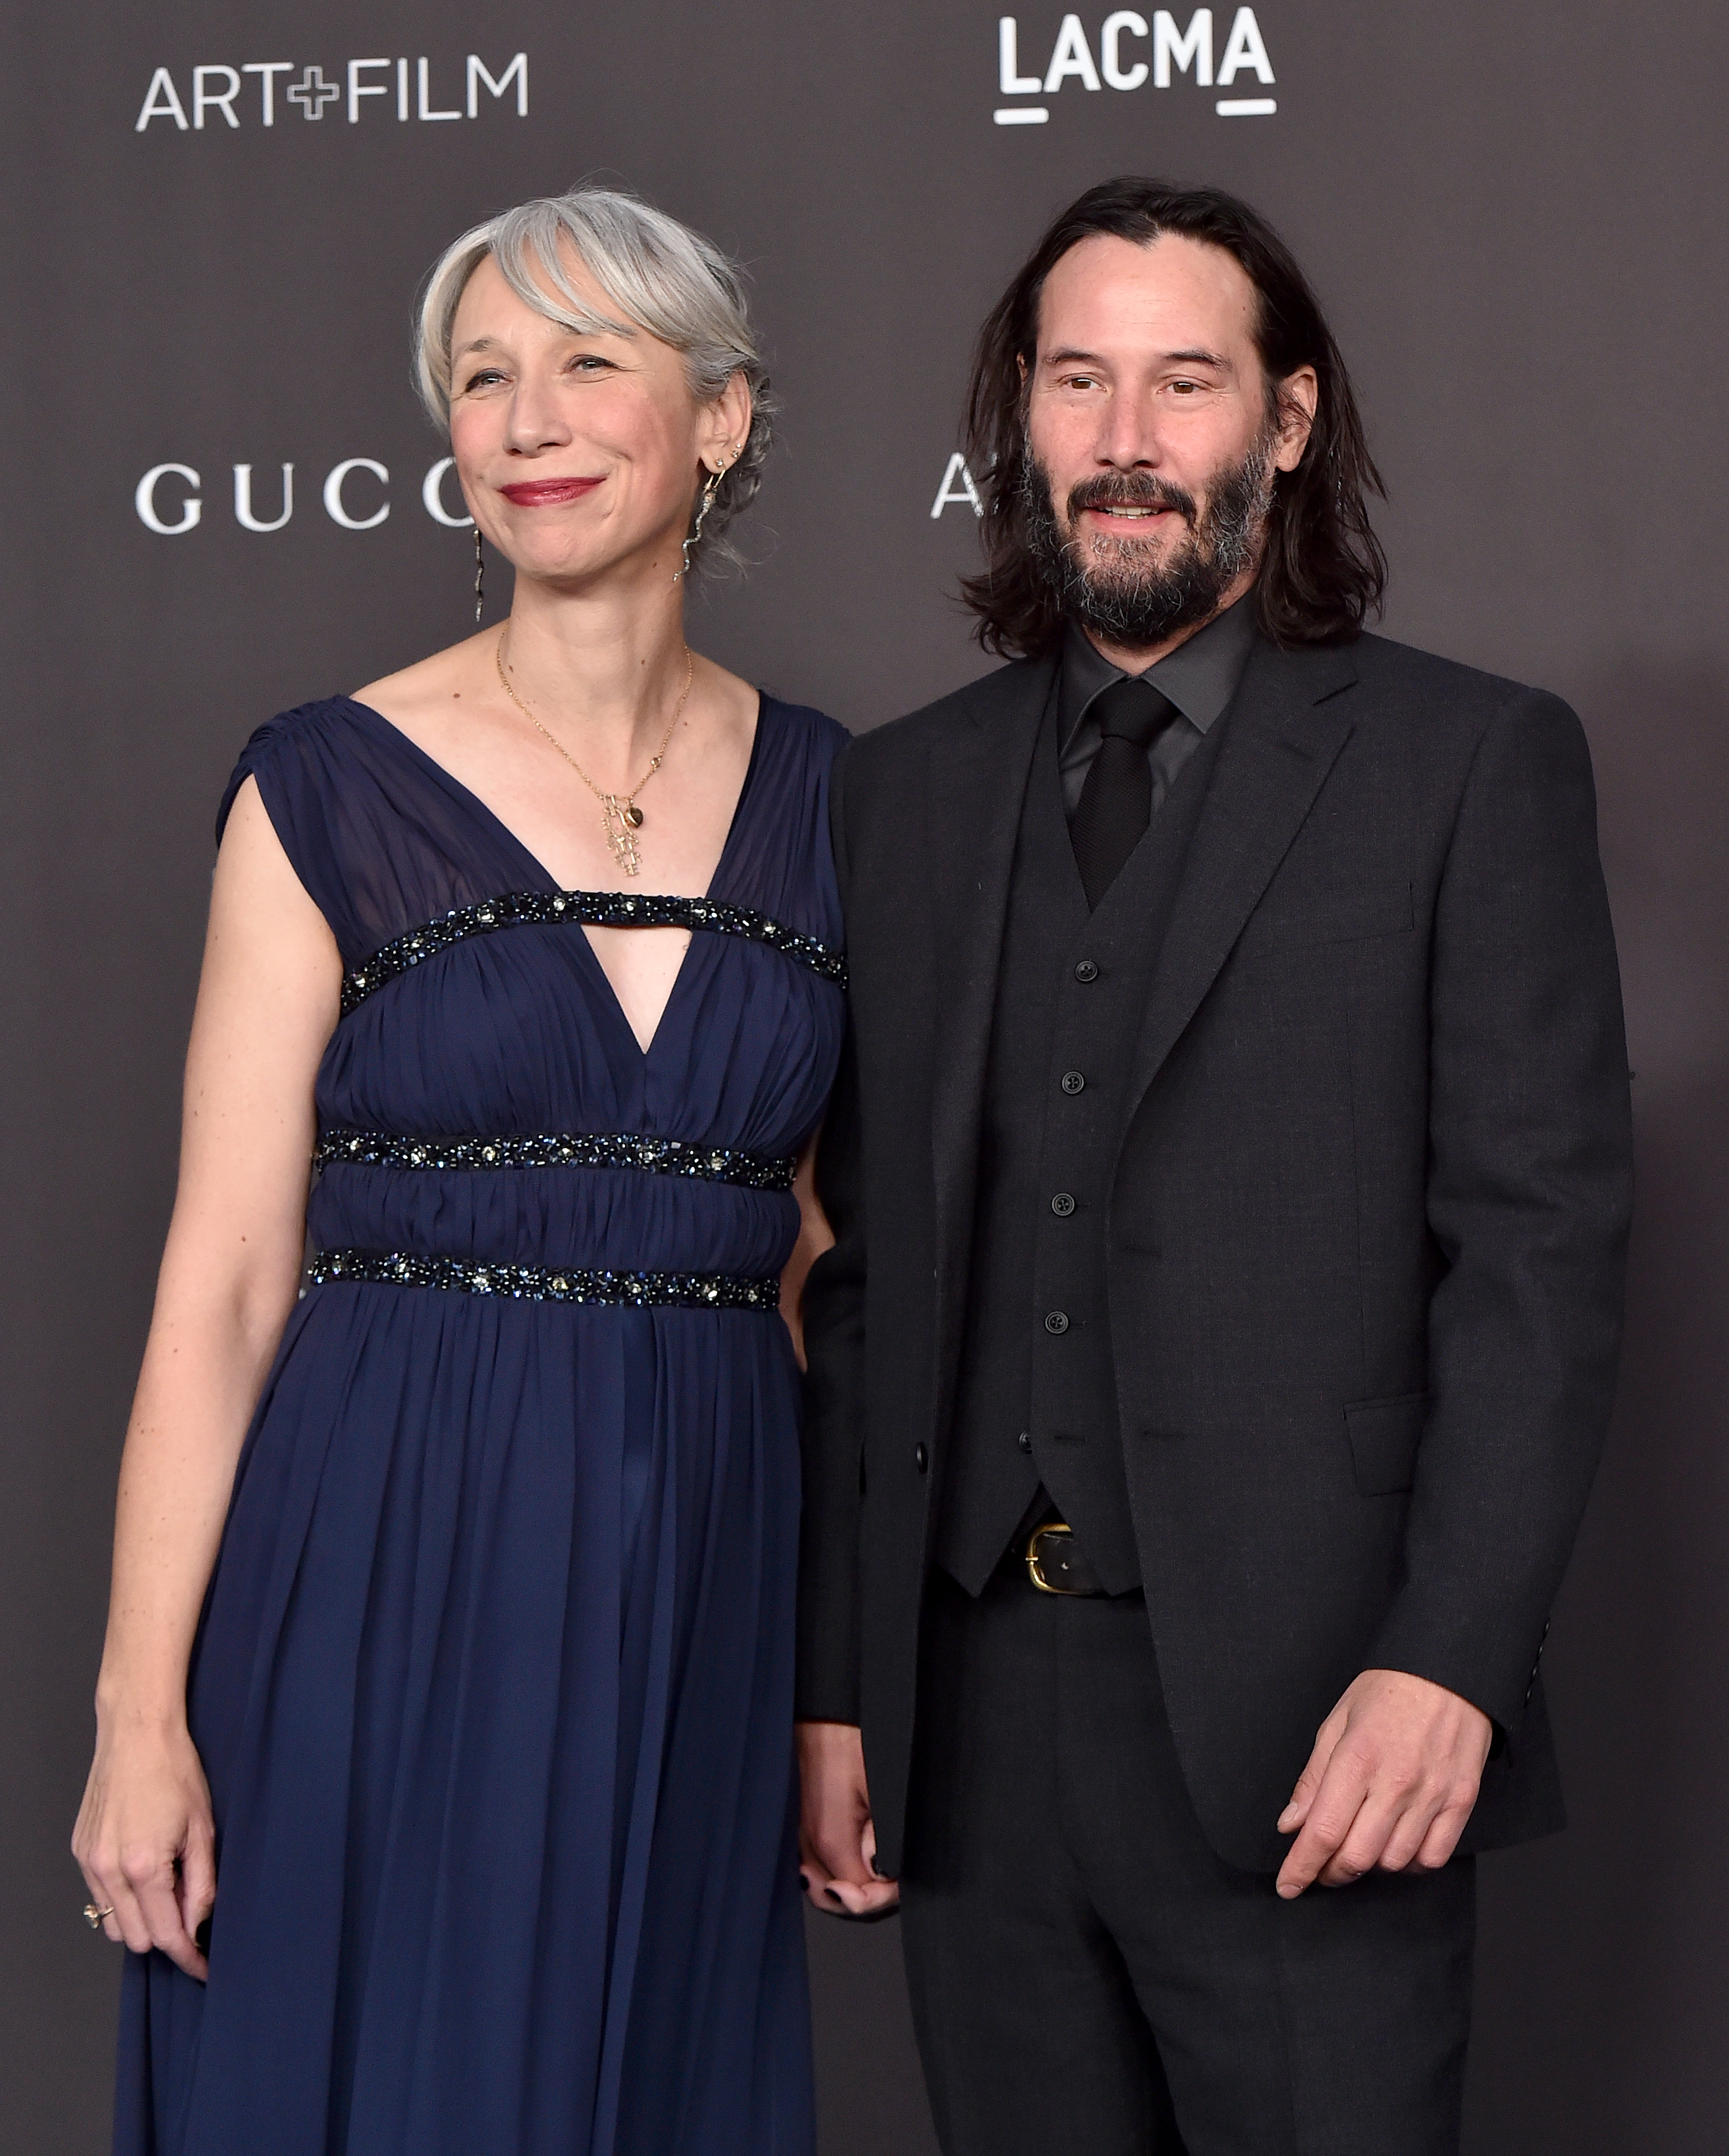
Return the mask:
[[[1524,692],[1479,744],[1434,923],[1429,1416],[1369,1667],[1511,1731],[1615,1395],[1628,1052],[1591,752]]]

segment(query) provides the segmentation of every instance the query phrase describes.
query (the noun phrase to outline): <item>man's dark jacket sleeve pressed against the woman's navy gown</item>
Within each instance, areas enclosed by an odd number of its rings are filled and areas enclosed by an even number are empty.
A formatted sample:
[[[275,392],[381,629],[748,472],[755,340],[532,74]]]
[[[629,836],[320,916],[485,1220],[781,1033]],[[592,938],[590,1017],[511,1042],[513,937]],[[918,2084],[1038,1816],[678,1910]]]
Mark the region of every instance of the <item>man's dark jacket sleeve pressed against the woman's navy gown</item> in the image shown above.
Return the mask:
[[[845,757],[830,793],[841,903],[849,897]],[[796,1714],[856,1723],[858,1535],[864,1455],[864,1177],[852,1024],[817,1143],[817,1197],[834,1231],[804,1281],[804,1526],[798,1578]]]

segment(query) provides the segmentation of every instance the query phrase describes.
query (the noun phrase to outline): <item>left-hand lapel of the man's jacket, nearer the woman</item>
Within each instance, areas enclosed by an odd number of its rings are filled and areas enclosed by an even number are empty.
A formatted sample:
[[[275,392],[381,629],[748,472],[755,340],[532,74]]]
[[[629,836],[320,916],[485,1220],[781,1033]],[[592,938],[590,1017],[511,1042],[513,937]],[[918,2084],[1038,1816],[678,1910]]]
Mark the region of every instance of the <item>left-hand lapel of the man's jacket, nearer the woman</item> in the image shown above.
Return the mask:
[[[931,1044],[936,1160],[936,1324],[940,1399],[959,1354],[979,1119],[985,1095],[996,975],[1009,918],[1026,776],[1056,681],[1056,664],[1005,668],[981,686],[964,731],[931,750],[927,813],[933,849],[938,1037]]]

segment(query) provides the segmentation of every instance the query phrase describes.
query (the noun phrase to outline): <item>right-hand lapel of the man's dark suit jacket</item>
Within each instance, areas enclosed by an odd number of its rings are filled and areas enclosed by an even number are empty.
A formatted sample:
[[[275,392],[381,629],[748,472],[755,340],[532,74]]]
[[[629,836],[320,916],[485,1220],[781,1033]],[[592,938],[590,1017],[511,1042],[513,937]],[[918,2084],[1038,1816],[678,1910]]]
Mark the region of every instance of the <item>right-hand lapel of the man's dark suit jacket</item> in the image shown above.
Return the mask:
[[[1225,720],[1130,1072],[1128,1119],[1201,1007],[1352,733],[1350,651],[1257,645]],[[1330,701],[1337,699],[1337,701]]]

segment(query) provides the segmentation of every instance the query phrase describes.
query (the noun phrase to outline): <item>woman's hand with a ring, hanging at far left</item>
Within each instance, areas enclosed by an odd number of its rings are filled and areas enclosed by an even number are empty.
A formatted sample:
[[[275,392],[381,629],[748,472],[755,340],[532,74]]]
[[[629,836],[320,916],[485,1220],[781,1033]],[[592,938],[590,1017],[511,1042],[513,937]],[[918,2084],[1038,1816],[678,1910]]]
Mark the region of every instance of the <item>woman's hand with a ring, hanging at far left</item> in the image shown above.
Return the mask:
[[[110,1938],[209,1975],[198,1925],[216,1904],[216,1822],[183,1725],[97,1738],[71,1854],[97,1908],[112,1910],[101,1925]]]

